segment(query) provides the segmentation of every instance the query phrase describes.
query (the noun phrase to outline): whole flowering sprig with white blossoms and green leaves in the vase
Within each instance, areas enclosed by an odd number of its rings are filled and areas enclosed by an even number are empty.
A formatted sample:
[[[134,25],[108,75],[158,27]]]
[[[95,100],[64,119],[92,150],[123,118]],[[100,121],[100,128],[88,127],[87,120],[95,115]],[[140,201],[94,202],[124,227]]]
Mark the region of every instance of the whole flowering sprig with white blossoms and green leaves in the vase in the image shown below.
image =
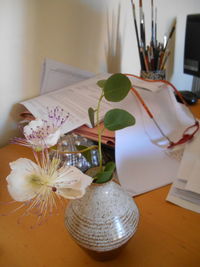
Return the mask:
[[[86,188],[92,183],[105,183],[112,178],[115,163],[102,164],[101,136],[104,131],[99,127],[101,101],[105,97],[108,101],[123,100],[131,89],[130,80],[123,74],[114,74],[107,80],[98,81],[101,90],[96,109],[89,108],[91,123],[98,127],[98,146],[79,146],[75,152],[82,153],[87,160],[91,149],[98,149],[99,167],[94,175],[86,175],[74,166],[63,164],[60,152],[55,145],[61,137],[61,126],[68,118],[63,116],[63,110],[55,107],[48,109],[48,118],[35,119],[24,127],[23,138],[13,138],[12,143],[27,146],[32,149],[35,162],[19,158],[10,163],[11,172],[7,176],[7,188],[11,197],[21,205],[15,209],[26,208],[20,218],[29,214],[37,216],[36,225],[46,220],[57,210],[57,202],[64,199],[81,198]],[[104,116],[105,128],[116,131],[135,123],[135,118],[122,109],[111,109]],[[50,151],[54,151],[51,154]],[[91,178],[93,177],[93,179]]]

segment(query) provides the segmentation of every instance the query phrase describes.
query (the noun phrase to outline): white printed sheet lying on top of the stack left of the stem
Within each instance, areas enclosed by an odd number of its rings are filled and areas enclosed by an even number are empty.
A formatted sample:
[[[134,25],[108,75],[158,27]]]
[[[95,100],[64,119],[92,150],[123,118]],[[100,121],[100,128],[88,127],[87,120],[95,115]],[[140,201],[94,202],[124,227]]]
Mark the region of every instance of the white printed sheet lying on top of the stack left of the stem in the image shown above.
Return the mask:
[[[58,89],[27,101],[21,102],[36,118],[46,118],[47,107],[62,108],[64,113],[69,113],[69,118],[62,126],[62,132],[70,132],[83,124],[90,126],[88,108],[97,107],[101,89],[96,82],[108,77],[109,74],[100,74],[94,78],[84,80],[74,85]],[[100,118],[111,108],[111,104],[102,100]]]

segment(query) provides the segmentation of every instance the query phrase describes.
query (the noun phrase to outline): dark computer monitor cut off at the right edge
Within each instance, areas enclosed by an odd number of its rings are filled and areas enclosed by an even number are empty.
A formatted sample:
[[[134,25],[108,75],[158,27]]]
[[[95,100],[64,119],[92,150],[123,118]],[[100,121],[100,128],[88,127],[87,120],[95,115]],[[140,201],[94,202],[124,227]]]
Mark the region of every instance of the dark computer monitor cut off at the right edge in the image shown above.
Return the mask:
[[[200,14],[186,19],[184,73],[200,77]]]

